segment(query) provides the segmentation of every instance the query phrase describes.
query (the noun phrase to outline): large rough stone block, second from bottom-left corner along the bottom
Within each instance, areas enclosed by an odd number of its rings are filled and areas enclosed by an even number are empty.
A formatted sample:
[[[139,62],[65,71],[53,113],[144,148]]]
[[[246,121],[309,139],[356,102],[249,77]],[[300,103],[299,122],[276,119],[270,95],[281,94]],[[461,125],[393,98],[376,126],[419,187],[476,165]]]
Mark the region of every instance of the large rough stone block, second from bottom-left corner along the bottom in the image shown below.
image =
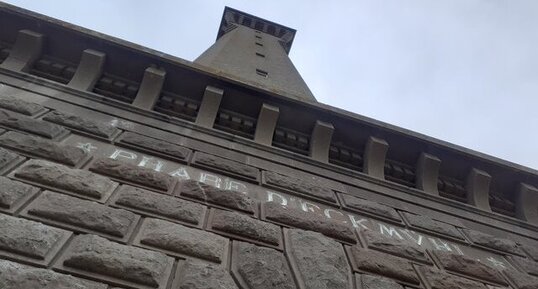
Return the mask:
[[[173,259],[166,255],[120,245],[95,235],[73,239],[64,267],[158,288],[168,279]]]

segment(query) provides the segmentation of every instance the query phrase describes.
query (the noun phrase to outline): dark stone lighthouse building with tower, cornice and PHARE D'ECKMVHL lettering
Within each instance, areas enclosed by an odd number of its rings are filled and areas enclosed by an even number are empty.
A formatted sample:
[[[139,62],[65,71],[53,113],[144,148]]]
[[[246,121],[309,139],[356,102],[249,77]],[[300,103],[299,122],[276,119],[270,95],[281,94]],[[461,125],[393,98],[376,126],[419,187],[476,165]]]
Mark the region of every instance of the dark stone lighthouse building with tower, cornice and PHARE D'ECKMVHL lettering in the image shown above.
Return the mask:
[[[317,103],[294,35],[226,8],[189,62],[0,4],[0,288],[538,288],[538,173]]]

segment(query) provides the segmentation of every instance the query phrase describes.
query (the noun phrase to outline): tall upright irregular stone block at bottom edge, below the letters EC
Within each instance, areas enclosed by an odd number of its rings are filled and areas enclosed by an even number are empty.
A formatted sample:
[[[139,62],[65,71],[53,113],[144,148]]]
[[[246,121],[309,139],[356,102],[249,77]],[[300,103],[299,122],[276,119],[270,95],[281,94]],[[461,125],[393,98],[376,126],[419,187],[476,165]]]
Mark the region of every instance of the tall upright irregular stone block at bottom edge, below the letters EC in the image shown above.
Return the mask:
[[[349,288],[349,267],[340,243],[316,232],[292,229],[286,245],[305,288]]]

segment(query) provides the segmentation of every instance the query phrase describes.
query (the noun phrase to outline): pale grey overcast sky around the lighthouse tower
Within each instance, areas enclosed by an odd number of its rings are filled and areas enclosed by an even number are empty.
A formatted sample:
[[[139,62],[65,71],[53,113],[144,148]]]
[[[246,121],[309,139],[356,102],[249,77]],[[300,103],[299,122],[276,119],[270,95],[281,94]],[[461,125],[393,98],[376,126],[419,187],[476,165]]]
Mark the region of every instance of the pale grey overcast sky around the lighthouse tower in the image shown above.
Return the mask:
[[[298,30],[320,102],[538,168],[536,0],[8,0],[193,60],[224,6]]]

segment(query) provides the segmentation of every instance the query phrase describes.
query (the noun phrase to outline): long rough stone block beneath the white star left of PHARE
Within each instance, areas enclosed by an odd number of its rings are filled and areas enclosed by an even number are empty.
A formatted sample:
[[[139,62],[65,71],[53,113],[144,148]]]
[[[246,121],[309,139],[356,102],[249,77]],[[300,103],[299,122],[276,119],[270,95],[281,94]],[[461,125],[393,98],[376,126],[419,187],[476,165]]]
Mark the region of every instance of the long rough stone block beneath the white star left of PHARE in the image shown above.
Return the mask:
[[[28,161],[15,176],[94,199],[106,196],[114,187],[109,178],[43,160]]]

